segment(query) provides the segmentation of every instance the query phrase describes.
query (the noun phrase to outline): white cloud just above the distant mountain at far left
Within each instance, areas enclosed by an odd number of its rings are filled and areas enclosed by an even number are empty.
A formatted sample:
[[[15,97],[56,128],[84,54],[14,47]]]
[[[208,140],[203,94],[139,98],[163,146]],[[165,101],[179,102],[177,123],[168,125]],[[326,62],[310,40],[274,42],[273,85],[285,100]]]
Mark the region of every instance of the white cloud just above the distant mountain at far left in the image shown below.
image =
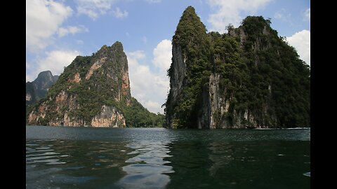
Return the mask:
[[[32,81],[37,78],[41,71],[50,70],[53,75],[60,75],[65,66],[68,66],[79,55],[77,50],[53,50],[46,52],[46,58],[37,59],[37,64],[28,64],[26,62],[26,80]],[[31,69],[30,73],[27,71]]]

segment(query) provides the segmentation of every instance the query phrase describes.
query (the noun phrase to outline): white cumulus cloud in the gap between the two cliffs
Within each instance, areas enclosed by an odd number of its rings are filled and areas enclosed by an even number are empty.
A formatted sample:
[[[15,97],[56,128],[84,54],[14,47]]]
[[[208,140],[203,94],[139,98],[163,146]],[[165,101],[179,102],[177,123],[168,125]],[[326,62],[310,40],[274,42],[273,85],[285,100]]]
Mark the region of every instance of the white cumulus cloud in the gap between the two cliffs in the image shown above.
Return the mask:
[[[152,65],[159,71],[153,71],[149,65],[140,64],[145,52],[138,50],[127,52],[131,93],[138,101],[153,113],[164,113],[164,104],[169,90],[169,78],[166,70],[171,64],[171,41],[164,39],[153,50]]]

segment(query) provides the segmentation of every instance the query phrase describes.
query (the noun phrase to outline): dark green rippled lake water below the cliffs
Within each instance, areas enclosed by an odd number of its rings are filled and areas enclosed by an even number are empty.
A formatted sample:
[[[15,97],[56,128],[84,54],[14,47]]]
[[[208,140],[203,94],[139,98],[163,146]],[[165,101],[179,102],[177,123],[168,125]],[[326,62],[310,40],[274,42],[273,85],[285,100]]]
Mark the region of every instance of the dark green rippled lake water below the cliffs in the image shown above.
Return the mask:
[[[26,126],[26,188],[310,188],[310,129]]]

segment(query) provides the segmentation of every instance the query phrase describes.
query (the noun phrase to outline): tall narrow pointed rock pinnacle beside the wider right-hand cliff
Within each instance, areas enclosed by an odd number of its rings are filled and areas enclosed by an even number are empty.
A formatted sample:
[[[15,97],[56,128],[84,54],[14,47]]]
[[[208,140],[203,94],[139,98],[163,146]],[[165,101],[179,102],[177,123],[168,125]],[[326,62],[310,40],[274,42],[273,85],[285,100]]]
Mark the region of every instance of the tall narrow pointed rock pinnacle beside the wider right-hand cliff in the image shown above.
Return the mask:
[[[189,6],[172,41],[173,57],[168,71],[171,89],[166,102],[166,123],[170,127],[198,127],[207,122],[201,115],[203,83],[211,73],[210,44],[204,24]]]

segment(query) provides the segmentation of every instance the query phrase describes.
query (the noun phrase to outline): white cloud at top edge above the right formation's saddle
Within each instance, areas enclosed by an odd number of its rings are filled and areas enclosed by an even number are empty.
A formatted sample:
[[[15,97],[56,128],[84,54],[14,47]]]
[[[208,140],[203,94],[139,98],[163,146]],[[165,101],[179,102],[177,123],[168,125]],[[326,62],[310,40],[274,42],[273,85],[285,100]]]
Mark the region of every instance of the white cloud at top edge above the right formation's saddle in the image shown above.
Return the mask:
[[[211,23],[211,31],[225,33],[228,24],[238,27],[242,21],[242,13],[253,14],[271,0],[208,0],[207,3],[215,13],[209,15],[208,22]]]

